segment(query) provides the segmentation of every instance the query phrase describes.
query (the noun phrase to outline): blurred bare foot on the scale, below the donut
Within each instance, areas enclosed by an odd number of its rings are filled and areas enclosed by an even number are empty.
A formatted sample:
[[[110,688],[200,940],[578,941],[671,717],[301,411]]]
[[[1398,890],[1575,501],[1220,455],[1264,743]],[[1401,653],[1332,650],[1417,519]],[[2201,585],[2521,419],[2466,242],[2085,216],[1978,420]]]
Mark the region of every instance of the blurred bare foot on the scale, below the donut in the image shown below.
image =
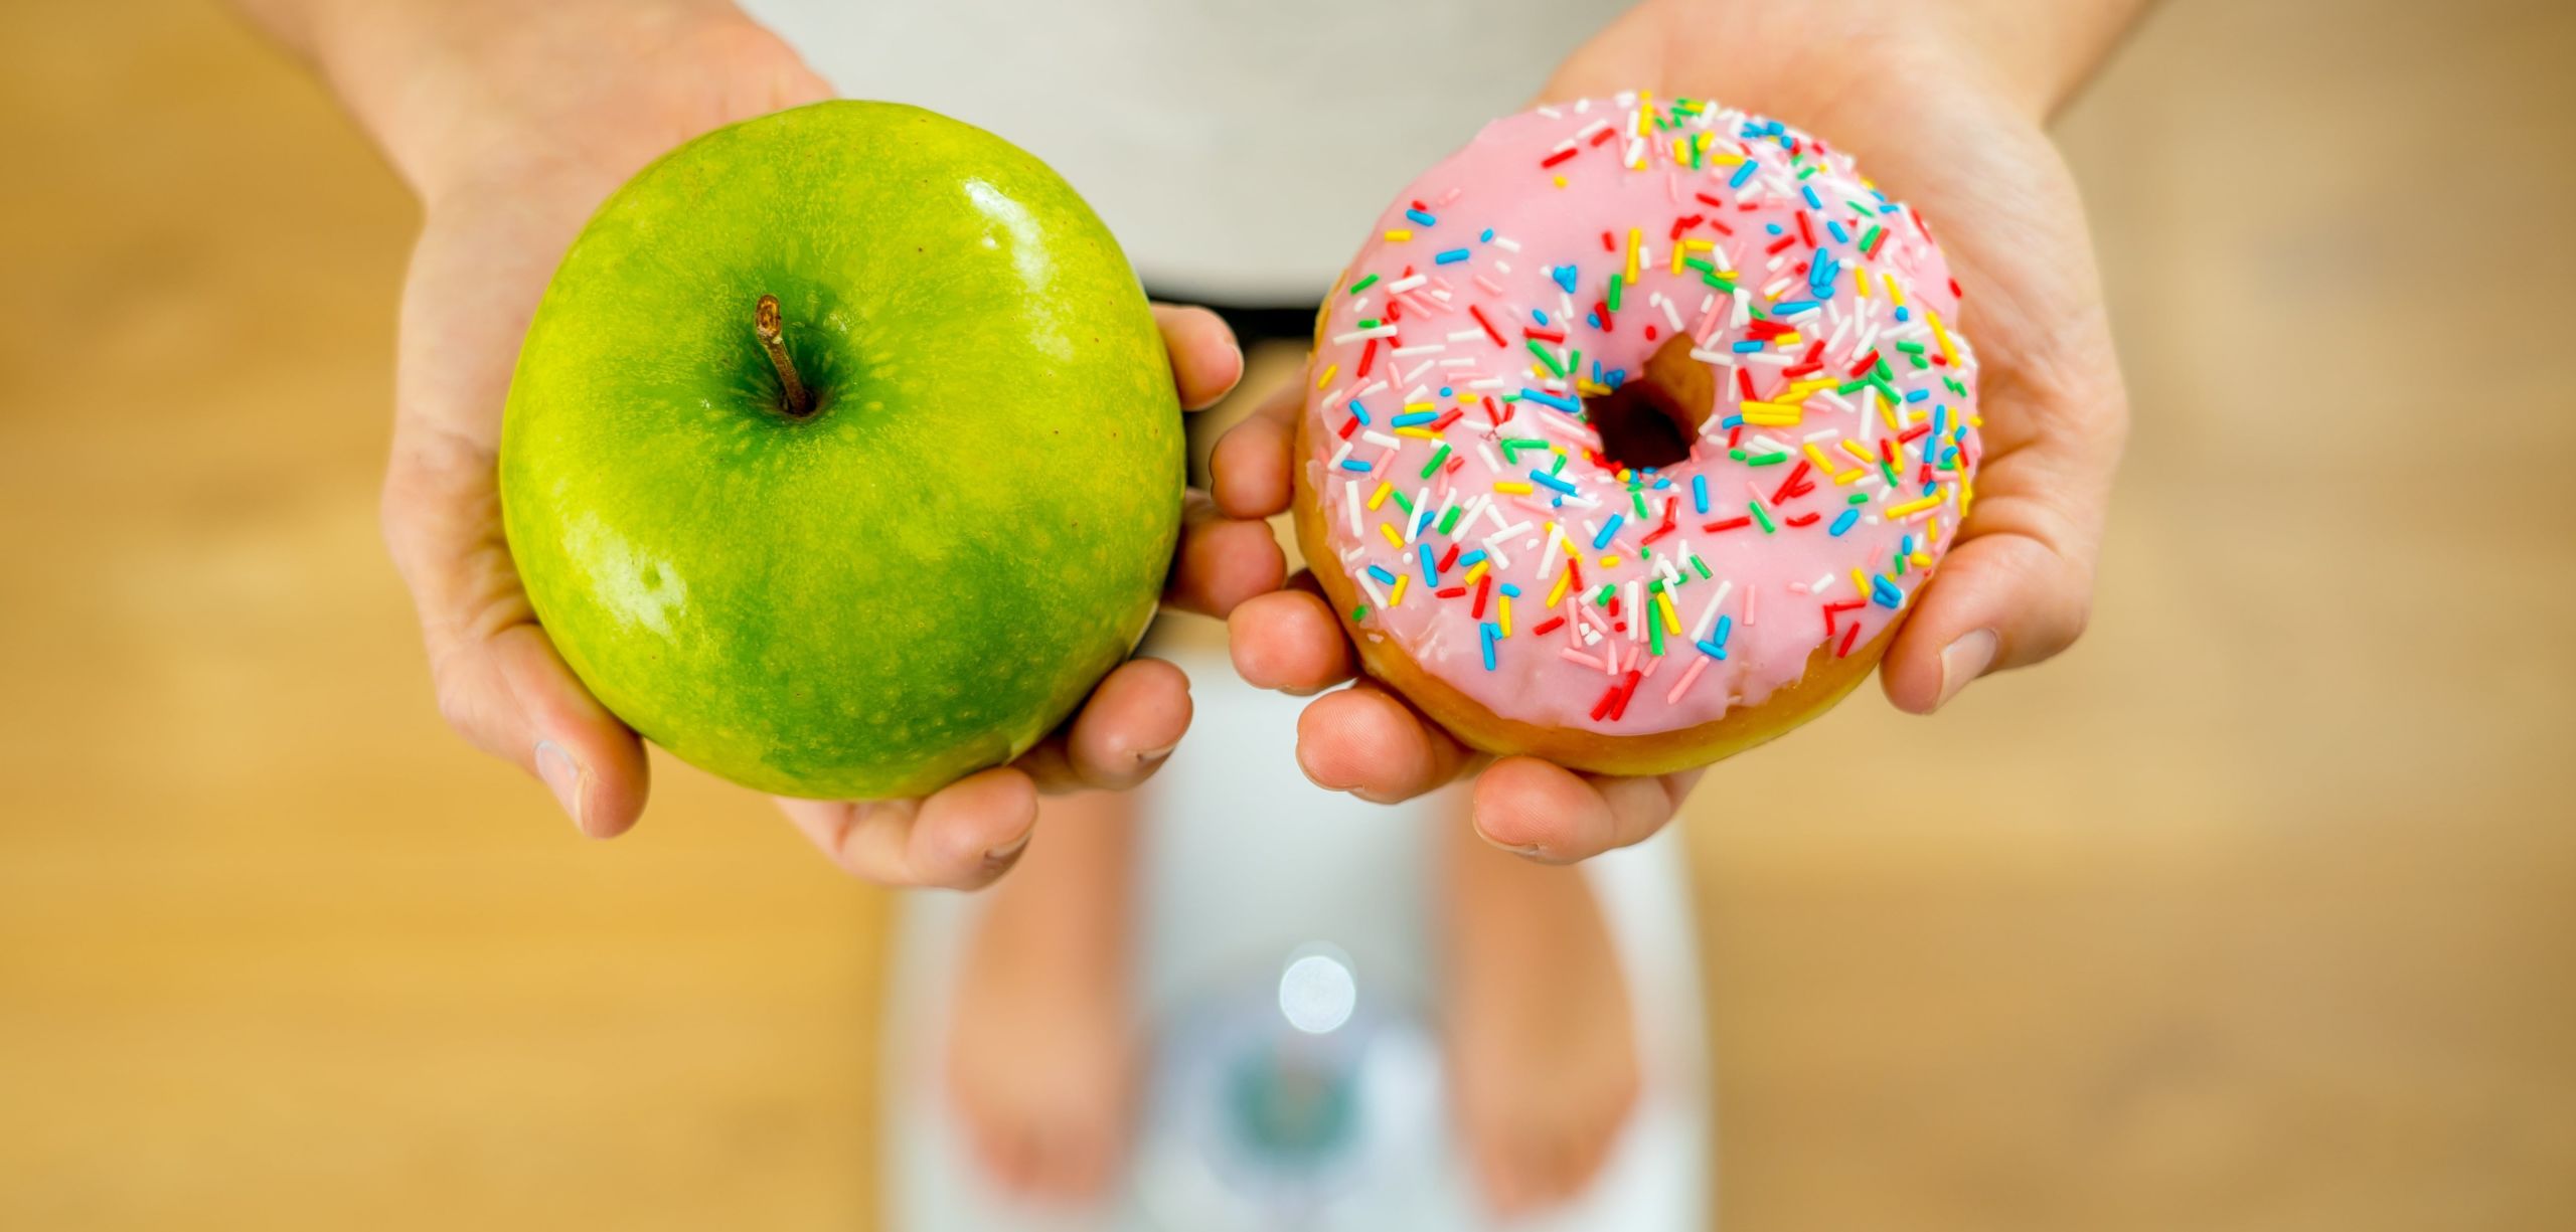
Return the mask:
[[[1499,1214],[1592,1183],[1636,1106],[1636,1021],[1582,869],[1450,826],[1448,1065],[1458,1132]]]

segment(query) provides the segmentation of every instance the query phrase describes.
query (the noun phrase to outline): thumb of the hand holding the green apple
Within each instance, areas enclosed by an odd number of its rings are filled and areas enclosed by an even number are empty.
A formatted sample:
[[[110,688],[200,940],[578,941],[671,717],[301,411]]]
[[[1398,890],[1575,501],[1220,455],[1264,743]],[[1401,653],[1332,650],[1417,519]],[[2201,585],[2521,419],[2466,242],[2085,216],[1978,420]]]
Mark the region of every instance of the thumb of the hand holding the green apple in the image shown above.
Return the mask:
[[[554,792],[592,838],[644,813],[644,743],[564,666],[510,566],[487,448],[399,427],[384,540],[420,610],[438,712]]]

